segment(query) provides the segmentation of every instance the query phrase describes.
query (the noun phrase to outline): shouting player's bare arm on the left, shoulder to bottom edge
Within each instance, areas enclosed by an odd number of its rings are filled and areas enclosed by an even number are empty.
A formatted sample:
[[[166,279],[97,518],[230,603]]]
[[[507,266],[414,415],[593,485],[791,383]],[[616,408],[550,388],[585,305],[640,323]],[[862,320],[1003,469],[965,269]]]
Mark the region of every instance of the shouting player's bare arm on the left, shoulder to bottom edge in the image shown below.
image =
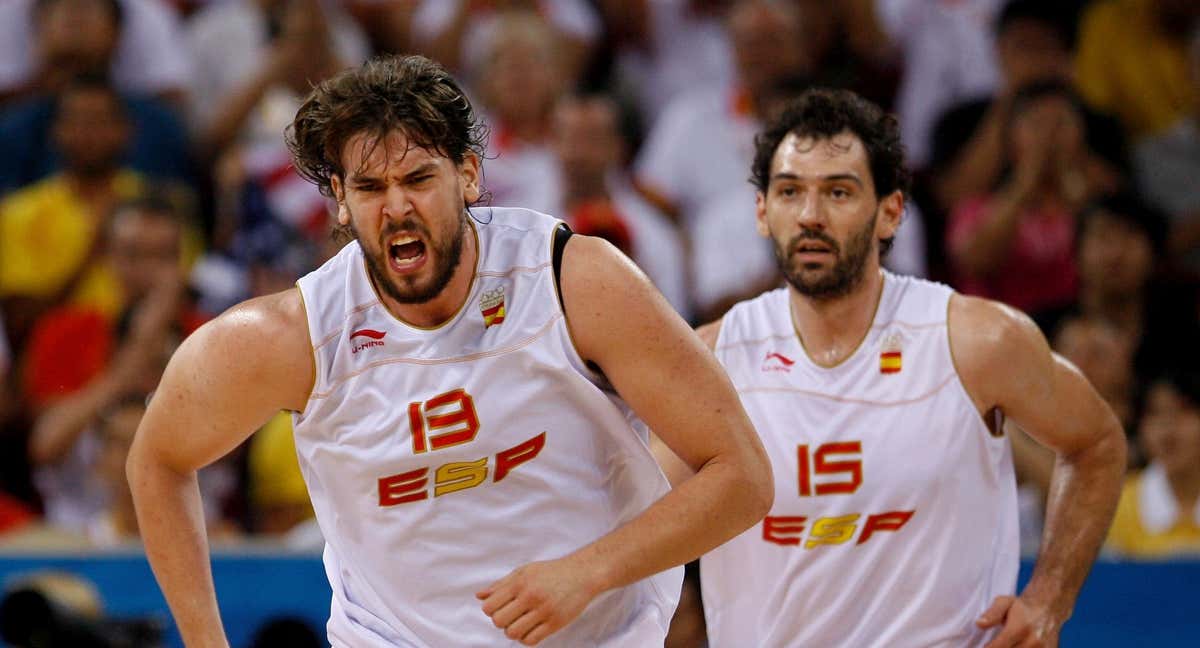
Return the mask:
[[[299,293],[260,298],[184,342],[138,427],[127,463],[138,526],[190,647],[226,646],[196,472],[280,409],[302,409],[312,380]]]

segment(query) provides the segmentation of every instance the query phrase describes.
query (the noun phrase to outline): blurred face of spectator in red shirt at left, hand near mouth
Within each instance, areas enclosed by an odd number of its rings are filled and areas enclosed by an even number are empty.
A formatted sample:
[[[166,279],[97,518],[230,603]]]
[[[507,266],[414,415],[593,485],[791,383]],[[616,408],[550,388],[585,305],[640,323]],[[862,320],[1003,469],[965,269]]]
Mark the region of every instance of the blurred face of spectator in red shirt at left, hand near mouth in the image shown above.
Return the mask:
[[[182,227],[174,215],[124,208],[113,215],[108,236],[109,263],[132,301],[179,269]]]

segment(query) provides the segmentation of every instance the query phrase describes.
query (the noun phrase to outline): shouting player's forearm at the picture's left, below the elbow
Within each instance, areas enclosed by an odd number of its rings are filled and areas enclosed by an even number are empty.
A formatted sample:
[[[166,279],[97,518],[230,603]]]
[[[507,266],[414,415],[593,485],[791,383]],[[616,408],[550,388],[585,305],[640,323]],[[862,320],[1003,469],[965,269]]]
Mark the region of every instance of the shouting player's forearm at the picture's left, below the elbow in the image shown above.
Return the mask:
[[[196,473],[131,452],[130,488],[158,587],[188,648],[228,648],[217,612]]]

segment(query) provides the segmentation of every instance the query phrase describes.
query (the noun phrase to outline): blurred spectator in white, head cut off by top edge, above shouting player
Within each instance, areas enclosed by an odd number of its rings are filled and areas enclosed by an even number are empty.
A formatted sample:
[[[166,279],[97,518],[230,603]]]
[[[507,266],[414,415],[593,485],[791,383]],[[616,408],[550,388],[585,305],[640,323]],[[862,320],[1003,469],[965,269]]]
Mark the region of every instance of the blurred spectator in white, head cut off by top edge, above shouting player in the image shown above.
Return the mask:
[[[509,12],[532,11],[562,41],[557,65],[574,82],[600,36],[600,16],[587,0],[419,0],[413,14],[413,41],[421,53],[451,72],[479,71],[486,64],[498,20]],[[533,72],[532,70],[529,72]],[[479,74],[470,85],[484,83]]]

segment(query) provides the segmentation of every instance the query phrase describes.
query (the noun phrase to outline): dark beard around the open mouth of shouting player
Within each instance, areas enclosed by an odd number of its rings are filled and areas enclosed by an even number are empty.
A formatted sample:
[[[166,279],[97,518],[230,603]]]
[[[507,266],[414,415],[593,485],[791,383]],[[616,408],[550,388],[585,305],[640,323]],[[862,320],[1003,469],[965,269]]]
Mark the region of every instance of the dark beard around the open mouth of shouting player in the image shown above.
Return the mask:
[[[379,242],[374,247],[365,245],[362,236],[354,229],[354,218],[350,216],[350,232],[362,248],[362,258],[367,262],[367,274],[371,281],[380,292],[400,304],[426,304],[442,294],[450,278],[454,277],[458,263],[462,260],[462,240],[467,230],[467,212],[463,211],[455,230],[443,240],[433,238],[432,233],[424,224],[407,218],[401,222],[389,222],[388,227],[379,236]],[[425,241],[425,254],[431,264],[432,276],[421,281],[419,277],[394,278],[388,272],[386,246],[384,241],[398,232],[415,232]]]

